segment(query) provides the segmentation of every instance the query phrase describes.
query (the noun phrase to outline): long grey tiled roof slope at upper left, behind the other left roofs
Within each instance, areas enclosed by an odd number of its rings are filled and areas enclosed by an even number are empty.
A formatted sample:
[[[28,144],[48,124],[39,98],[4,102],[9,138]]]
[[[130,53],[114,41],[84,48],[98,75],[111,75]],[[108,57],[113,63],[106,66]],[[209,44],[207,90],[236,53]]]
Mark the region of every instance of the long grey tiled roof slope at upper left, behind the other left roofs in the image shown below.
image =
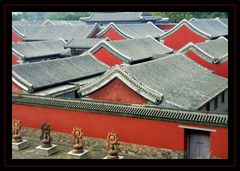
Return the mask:
[[[63,38],[87,38],[97,25],[43,25],[43,26],[16,26],[15,28],[26,35],[25,40],[56,40]]]

